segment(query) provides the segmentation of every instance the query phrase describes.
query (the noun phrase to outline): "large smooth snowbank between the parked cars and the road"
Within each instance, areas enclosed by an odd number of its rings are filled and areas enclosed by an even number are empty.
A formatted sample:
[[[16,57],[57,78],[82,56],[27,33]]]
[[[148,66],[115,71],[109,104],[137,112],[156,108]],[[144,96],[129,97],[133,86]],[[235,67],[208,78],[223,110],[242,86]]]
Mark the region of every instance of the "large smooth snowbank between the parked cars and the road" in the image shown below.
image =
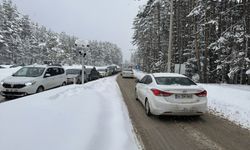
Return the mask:
[[[0,104],[1,150],[138,149],[116,77]]]

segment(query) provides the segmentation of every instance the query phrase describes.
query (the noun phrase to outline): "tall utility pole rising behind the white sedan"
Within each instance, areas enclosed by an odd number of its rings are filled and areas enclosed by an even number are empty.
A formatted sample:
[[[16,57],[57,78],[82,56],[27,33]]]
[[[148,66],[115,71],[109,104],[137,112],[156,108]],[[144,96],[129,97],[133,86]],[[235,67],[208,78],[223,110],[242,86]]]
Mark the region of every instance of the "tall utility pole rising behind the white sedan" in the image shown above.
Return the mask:
[[[169,43],[168,43],[168,72],[171,72],[171,59],[172,59],[172,34],[173,34],[173,0],[170,0],[170,29],[169,29]]]

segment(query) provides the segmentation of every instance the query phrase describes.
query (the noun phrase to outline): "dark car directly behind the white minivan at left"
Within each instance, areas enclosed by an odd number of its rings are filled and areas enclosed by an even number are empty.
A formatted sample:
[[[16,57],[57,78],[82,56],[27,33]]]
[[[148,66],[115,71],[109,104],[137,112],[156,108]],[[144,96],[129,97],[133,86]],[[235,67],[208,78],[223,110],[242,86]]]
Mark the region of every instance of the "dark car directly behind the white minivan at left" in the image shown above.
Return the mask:
[[[84,71],[84,82],[87,82],[86,71]],[[81,84],[82,83],[82,69],[67,69],[67,84]]]

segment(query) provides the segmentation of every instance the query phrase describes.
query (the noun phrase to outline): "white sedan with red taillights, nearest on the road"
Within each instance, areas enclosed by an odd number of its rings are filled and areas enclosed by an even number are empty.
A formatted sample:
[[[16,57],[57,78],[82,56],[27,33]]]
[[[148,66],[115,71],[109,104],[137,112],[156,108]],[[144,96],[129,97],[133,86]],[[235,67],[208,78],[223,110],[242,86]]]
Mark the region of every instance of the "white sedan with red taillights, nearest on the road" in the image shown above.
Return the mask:
[[[207,111],[207,91],[184,75],[148,74],[137,80],[135,90],[148,116],[200,116]]]

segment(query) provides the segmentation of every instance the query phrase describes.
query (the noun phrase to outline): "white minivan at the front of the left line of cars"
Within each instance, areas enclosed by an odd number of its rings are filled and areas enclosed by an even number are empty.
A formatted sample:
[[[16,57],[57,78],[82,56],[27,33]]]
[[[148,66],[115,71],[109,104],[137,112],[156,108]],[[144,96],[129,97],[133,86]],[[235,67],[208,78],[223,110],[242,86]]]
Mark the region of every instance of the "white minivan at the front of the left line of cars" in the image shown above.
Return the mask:
[[[26,66],[1,81],[1,95],[21,97],[66,85],[66,73],[58,66]]]

